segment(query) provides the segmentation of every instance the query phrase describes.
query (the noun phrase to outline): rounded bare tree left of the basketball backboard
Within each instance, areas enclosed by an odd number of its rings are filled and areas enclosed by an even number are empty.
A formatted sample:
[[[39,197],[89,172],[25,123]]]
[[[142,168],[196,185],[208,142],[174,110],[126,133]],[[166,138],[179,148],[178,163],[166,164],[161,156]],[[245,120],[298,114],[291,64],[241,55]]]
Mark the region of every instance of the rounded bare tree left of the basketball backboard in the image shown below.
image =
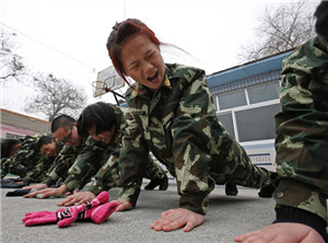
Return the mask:
[[[57,79],[52,74],[34,78],[36,96],[27,101],[25,112],[43,113],[51,121],[61,114],[77,117],[84,108],[86,94],[84,89],[78,88],[65,79]]]

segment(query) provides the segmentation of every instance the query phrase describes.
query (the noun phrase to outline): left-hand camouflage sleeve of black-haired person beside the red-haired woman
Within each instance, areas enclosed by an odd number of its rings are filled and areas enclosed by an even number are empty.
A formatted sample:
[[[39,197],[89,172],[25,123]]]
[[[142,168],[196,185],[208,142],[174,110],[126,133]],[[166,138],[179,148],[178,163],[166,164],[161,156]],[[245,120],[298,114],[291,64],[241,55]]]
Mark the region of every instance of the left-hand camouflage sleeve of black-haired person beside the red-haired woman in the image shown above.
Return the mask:
[[[91,141],[91,142],[90,142]],[[87,140],[85,148],[69,169],[69,175],[63,182],[70,192],[82,188],[101,169],[106,144]]]

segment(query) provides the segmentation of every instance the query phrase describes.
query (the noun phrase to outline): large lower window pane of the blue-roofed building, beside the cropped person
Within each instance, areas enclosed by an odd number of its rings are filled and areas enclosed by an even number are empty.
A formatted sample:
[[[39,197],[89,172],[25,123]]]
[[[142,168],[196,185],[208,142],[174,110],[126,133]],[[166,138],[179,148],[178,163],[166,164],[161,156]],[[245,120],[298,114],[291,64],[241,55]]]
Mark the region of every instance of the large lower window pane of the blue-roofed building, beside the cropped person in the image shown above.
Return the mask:
[[[274,115],[280,104],[235,112],[239,142],[276,138]]]

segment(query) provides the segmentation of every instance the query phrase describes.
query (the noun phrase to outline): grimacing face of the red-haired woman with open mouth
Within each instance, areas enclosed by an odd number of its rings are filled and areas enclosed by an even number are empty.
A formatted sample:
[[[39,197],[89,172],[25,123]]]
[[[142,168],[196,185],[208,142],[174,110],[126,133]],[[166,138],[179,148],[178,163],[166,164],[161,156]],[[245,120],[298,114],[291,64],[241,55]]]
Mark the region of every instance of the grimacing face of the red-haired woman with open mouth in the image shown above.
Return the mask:
[[[161,86],[164,60],[159,47],[145,35],[130,37],[121,48],[120,59],[126,76],[154,91]]]

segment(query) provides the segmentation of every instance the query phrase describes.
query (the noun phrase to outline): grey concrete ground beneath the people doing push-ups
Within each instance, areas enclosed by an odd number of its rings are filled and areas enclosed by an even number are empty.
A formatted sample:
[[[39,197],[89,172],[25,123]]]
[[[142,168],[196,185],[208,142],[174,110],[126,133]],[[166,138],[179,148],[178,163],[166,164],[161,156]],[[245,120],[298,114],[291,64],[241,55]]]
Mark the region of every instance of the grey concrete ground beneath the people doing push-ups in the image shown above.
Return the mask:
[[[144,186],[144,185],[143,185]],[[143,187],[142,187],[143,188]],[[224,187],[210,195],[210,208],[202,225],[186,233],[181,229],[156,232],[150,228],[162,211],[178,207],[176,185],[166,192],[142,190],[134,209],[114,212],[102,224],[74,222],[68,228],[54,224],[25,227],[22,218],[32,211],[56,211],[56,199],[5,197],[1,189],[1,243],[20,242],[234,242],[234,236],[257,230],[274,220],[274,200],[259,198],[256,189],[238,188],[237,196],[225,196]],[[117,198],[118,189],[109,190],[110,200]]]

